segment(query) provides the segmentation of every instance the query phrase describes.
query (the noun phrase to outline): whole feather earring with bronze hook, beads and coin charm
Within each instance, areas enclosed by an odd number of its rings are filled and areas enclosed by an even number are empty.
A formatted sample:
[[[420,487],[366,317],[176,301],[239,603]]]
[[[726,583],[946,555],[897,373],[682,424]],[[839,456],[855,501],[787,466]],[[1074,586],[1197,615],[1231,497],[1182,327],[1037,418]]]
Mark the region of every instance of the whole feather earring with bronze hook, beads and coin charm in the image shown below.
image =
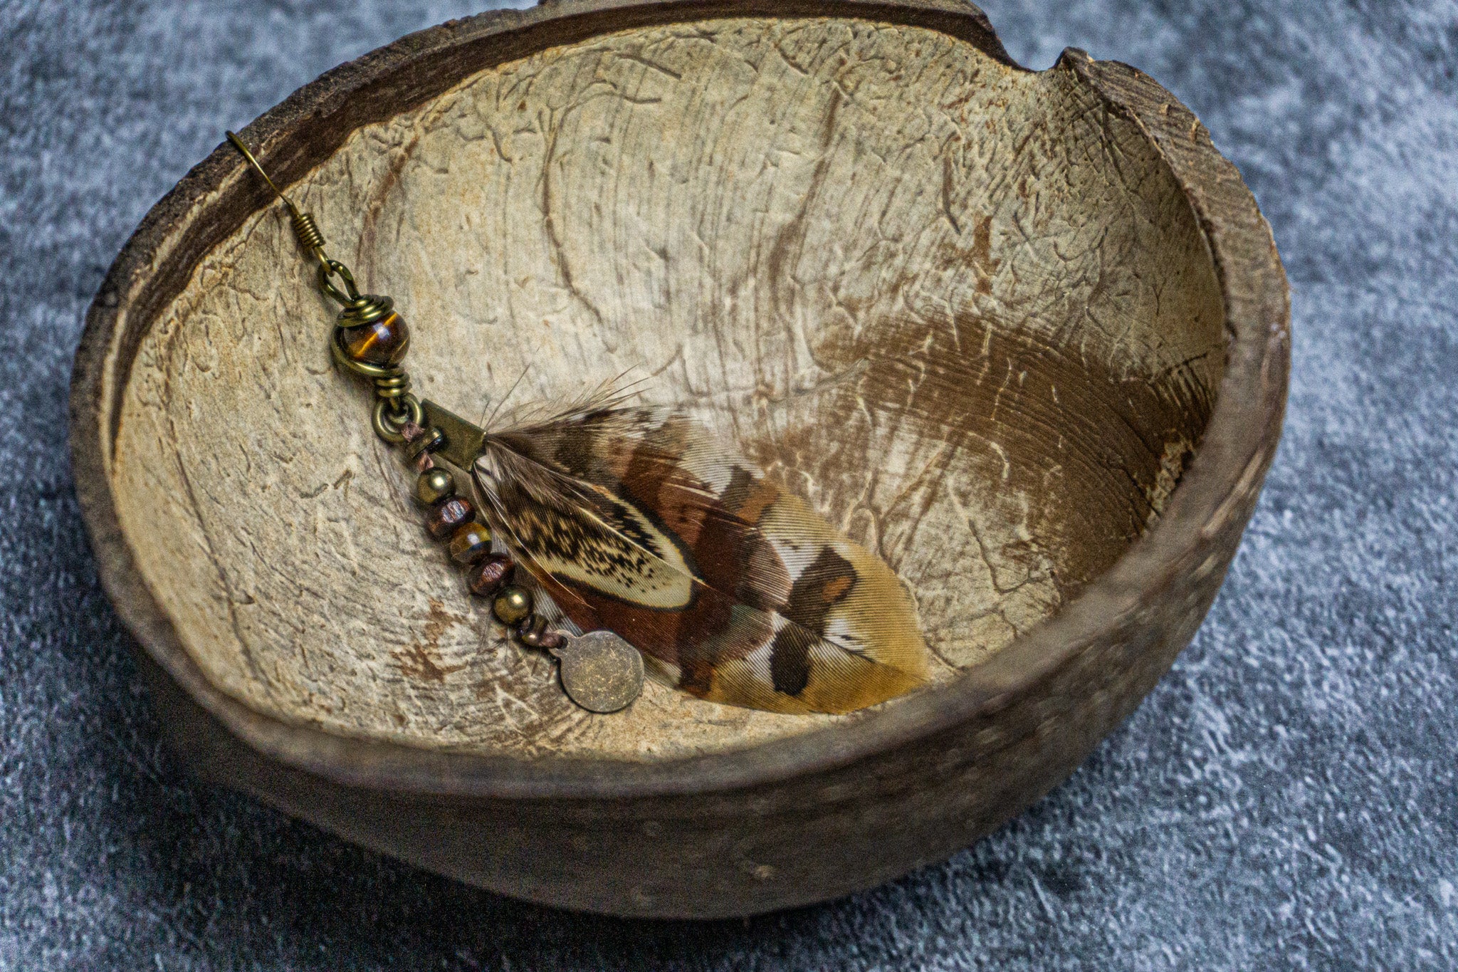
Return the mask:
[[[599,389],[480,428],[417,399],[389,297],[360,294],[313,217],[268,185],[343,306],[331,348],[372,380],[375,431],[404,446],[427,530],[523,646],[560,660],[573,701],[624,708],[649,670],[714,702],[849,713],[926,679],[916,602],[885,561],[685,414]]]

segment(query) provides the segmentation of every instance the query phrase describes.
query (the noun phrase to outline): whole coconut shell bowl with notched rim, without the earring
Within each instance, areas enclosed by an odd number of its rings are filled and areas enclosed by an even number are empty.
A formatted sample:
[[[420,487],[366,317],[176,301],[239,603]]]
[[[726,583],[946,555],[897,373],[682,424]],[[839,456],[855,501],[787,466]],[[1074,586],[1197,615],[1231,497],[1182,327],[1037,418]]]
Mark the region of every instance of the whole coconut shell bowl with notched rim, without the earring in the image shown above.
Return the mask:
[[[424,395],[646,376],[878,549],[937,654],[847,717],[574,710],[420,529],[222,146],[77,353],[106,590],[203,774],[503,893],[742,915],[965,847],[1188,643],[1280,436],[1286,281],[1235,169],[1149,77],[1026,71],[970,6],[490,13],[243,137],[413,321]]]

